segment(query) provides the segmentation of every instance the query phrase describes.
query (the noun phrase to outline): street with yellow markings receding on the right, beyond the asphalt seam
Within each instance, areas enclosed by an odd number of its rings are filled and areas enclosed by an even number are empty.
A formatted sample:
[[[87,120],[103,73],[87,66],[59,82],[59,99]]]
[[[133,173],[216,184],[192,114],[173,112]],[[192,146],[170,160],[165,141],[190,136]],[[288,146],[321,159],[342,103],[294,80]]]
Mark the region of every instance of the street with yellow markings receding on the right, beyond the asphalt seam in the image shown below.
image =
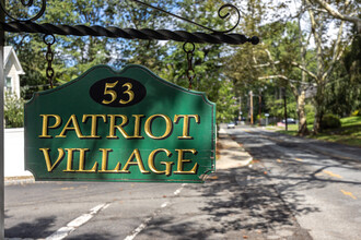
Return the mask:
[[[313,239],[361,239],[361,148],[258,128],[229,133]]]

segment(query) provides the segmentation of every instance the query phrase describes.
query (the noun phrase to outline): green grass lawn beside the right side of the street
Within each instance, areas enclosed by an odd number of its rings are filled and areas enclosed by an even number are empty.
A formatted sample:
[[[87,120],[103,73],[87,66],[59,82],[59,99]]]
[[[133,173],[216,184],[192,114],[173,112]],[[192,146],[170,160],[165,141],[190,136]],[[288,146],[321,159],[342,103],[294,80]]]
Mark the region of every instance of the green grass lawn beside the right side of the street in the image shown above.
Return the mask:
[[[312,131],[313,125],[308,124],[307,128]],[[278,132],[296,135],[298,125],[289,125],[288,129],[289,131],[279,130]],[[317,135],[310,134],[306,137],[361,147],[361,117],[342,118],[341,128],[324,130]]]

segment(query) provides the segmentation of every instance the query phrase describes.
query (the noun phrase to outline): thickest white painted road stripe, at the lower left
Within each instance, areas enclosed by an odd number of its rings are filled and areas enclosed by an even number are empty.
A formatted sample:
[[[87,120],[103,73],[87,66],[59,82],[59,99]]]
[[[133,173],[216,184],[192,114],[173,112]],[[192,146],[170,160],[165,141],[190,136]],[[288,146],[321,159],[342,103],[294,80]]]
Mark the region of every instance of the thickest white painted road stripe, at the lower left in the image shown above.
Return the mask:
[[[84,225],[86,221],[92,219],[97,213],[107,208],[110,204],[104,203],[93,207],[88,214],[83,214],[80,217],[73,219],[66,227],[59,228],[51,236],[47,237],[46,240],[61,240],[68,237],[72,231],[74,231],[80,226]]]

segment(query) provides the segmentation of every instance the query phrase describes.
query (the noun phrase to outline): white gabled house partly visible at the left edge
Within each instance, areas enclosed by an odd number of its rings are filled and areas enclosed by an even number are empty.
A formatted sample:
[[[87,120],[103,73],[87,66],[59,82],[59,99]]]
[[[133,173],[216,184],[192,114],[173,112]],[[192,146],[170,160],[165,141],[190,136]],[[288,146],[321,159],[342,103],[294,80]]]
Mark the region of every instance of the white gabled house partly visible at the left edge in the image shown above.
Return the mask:
[[[25,73],[20,64],[13,47],[4,47],[3,52],[5,91],[11,92],[20,97],[20,75]]]

